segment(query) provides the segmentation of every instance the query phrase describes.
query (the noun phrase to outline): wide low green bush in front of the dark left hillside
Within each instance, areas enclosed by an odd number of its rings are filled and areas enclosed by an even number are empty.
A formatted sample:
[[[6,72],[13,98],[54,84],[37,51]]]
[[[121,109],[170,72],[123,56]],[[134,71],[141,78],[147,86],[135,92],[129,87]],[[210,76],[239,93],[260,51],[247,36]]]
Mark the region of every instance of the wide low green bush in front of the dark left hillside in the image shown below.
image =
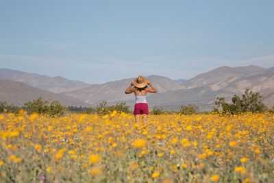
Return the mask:
[[[62,116],[64,114],[64,106],[59,101],[53,101],[49,105],[49,101],[42,99],[41,97],[33,101],[25,103],[25,109],[29,114],[50,114],[51,116]]]

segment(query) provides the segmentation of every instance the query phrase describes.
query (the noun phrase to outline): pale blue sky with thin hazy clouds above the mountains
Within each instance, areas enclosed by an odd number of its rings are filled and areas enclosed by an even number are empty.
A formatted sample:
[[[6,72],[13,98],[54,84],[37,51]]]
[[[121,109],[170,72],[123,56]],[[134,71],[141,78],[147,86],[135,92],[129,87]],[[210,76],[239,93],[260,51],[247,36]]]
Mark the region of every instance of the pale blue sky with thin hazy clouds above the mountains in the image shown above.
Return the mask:
[[[274,66],[274,1],[1,1],[1,68],[103,83]]]

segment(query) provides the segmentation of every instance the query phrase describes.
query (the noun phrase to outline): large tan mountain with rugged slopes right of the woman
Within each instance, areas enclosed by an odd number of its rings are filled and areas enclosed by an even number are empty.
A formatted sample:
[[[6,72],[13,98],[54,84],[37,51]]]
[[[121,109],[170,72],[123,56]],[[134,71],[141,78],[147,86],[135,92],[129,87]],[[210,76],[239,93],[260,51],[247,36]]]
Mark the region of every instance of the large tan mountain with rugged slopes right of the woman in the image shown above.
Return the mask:
[[[193,77],[184,84],[184,89],[159,93],[148,97],[151,106],[178,109],[179,106],[195,103],[202,110],[211,110],[216,97],[242,95],[245,89],[258,92],[267,106],[274,106],[274,67],[263,69],[258,66],[221,66],[208,73]]]

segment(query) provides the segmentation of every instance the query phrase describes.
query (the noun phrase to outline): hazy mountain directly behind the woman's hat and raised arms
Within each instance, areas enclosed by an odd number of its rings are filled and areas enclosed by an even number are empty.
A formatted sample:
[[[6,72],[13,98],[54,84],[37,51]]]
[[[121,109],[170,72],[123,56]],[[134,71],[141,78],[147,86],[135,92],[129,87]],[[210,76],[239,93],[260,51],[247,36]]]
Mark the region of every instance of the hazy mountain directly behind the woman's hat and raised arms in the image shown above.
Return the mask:
[[[182,86],[179,86],[179,84],[168,77],[150,75],[147,79],[150,80],[153,86],[158,89],[159,93],[164,93],[170,90],[179,90],[182,88]],[[105,84],[92,84],[86,88],[65,92],[63,94],[92,104],[101,101],[115,103],[116,101],[134,100],[134,95],[125,95],[125,89],[129,86],[132,80],[134,80],[134,78],[107,82]]]

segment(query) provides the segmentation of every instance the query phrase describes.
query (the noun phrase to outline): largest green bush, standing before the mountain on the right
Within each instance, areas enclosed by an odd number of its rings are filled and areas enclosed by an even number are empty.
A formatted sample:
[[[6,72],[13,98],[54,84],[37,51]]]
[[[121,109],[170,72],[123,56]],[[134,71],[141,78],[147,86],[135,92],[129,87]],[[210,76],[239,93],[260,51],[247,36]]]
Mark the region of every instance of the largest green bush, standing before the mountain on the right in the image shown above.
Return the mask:
[[[245,93],[242,95],[242,98],[234,95],[232,97],[232,103],[225,102],[224,97],[217,97],[215,104],[217,108],[214,110],[219,110],[221,112],[230,113],[230,114],[240,114],[242,112],[264,112],[267,110],[264,103],[261,101],[262,96],[259,93],[253,93],[251,90],[245,90]]]

